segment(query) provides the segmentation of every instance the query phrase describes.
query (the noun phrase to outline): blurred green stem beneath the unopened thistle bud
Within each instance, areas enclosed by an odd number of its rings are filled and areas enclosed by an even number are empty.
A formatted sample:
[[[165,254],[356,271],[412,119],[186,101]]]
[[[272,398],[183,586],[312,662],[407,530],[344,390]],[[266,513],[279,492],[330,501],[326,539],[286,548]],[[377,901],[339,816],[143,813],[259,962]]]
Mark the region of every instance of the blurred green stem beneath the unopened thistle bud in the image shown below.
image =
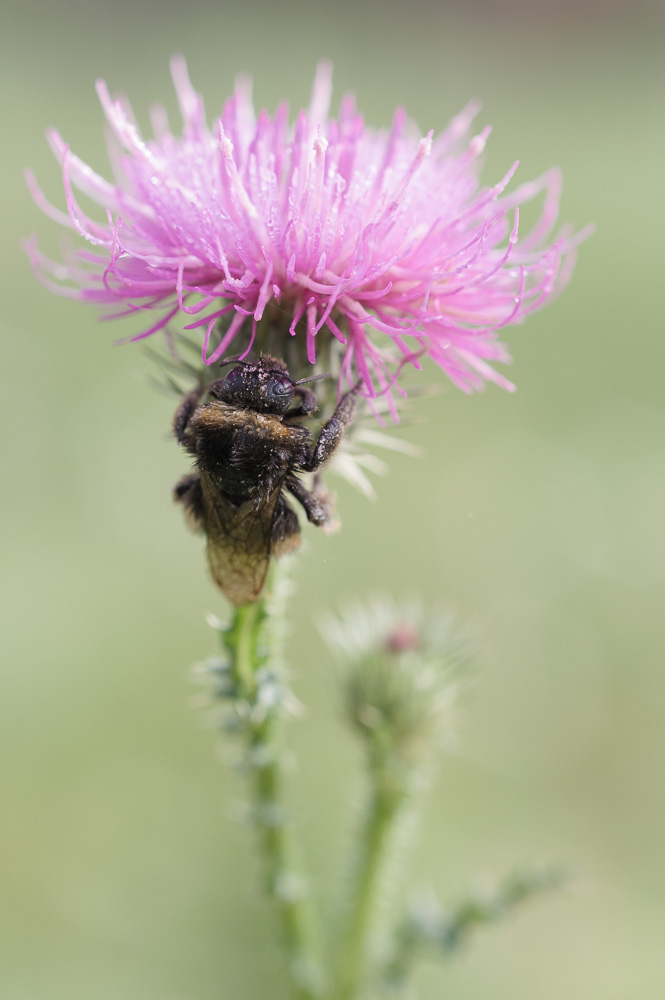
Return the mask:
[[[372,770],[367,812],[350,892],[350,905],[341,936],[335,1000],[356,1000],[366,978],[367,951],[386,854],[404,790],[391,780],[389,768]]]

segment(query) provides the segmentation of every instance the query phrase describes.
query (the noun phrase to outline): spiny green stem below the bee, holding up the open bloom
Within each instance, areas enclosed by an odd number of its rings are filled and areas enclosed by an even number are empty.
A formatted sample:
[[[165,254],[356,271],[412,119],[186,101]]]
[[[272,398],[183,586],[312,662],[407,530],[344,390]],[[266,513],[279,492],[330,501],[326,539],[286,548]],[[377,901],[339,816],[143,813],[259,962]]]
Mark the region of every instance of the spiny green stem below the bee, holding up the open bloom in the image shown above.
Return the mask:
[[[297,1000],[315,1000],[321,994],[321,973],[312,949],[312,913],[303,882],[293,864],[292,835],[281,804],[282,768],[278,745],[279,709],[261,699],[266,681],[259,668],[270,668],[276,651],[269,648],[266,598],[236,608],[224,645],[231,657],[236,684],[239,731],[245,743],[246,772],[252,785],[253,825],[265,871],[265,891],[278,914],[287,966]],[[274,610],[272,610],[274,614]],[[266,641],[267,640],[267,641]],[[267,649],[262,645],[266,643]],[[265,671],[263,671],[265,674]]]

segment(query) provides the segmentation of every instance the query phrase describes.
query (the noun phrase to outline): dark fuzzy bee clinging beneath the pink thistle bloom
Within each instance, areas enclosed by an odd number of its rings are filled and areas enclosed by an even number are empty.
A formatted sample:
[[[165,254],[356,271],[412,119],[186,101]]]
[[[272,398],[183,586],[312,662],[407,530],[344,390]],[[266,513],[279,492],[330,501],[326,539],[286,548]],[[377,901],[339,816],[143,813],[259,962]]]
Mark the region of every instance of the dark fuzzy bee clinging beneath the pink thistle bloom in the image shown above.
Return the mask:
[[[303,387],[310,381],[294,381],[283,361],[262,354],[197,386],[175,413],[174,434],[195,470],[176,484],[174,498],[190,527],[206,535],[213,579],[236,606],[258,598],[273,556],[300,544],[288,493],[312,524],[334,524],[330,495],[306,489],[298,476],[316,472],[338,447],[356,414],[358,386],[342,396],[313,441],[294,422],[318,409],[315,394]]]

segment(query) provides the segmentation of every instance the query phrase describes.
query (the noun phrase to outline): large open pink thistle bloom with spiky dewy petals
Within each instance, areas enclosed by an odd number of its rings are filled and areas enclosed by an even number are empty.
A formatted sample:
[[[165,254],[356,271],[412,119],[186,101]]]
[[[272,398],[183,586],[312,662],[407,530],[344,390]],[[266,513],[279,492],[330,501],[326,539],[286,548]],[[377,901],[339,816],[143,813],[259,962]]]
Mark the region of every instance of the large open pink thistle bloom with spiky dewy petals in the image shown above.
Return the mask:
[[[340,389],[360,380],[369,397],[390,397],[404,365],[419,367],[425,354],[467,392],[486,380],[512,389],[490,364],[510,360],[499,331],[566,284],[584,235],[548,243],[556,170],[507,194],[514,163],[498,184],[479,186],[489,129],[470,137],[475,103],[437,137],[421,137],[402,109],[389,131],[369,129],[351,96],[330,118],[327,63],[293,126],[285,104],[256,117],[242,79],[211,129],[182,58],[172,73],[181,137],[156,107],[154,138],[143,139],[128,103],[97,84],[113,182],[48,133],[67,212],[30,172],[28,184],[49,216],[94,248],[62,265],[30,241],[48,287],[104,307],[105,318],[147,311],[132,340],[182,314],[185,329],[201,331],[208,365],[232,345],[244,356],[271,324],[311,364],[322,339],[336,341]],[[105,221],[84,211],[75,189]],[[519,205],[541,193],[539,220],[518,237]]]

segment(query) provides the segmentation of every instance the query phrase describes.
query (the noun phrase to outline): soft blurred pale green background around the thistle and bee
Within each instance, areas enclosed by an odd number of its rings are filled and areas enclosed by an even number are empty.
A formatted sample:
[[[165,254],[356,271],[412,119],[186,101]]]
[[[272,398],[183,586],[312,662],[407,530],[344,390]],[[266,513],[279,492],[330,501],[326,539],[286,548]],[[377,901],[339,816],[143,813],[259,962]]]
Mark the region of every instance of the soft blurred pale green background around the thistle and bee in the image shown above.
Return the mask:
[[[170,488],[186,466],[171,401],[118,328],[49,295],[19,240],[61,236],[23,185],[62,203],[56,125],[104,171],[93,81],[141,122],[174,107],[184,52],[209,115],[239,70],[259,105],[306,102],[316,60],[367,120],[405,102],[438,131],[472,96],[494,125],[484,180],[564,171],[562,217],[597,233],[570,288],[509,331],[514,396],[452,386],[418,403],[371,505],[339,487],[343,533],[307,532],[290,659],[307,717],[291,795],[334,892],[358,789],[312,624],[379,589],[444,601],[487,654],[425,811],[417,885],[455,899],[532,860],[588,873],[424,965],[422,1000],[662,1000],[665,995],[665,143],[662,4],[242,6],[65,0],[6,9],[2,220],[0,820],[3,1000],[285,995],[241,789],[192,706],[188,664],[221,612]],[[427,379],[442,383],[438,373]],[[219,756],[219,755],[218,755]]]

